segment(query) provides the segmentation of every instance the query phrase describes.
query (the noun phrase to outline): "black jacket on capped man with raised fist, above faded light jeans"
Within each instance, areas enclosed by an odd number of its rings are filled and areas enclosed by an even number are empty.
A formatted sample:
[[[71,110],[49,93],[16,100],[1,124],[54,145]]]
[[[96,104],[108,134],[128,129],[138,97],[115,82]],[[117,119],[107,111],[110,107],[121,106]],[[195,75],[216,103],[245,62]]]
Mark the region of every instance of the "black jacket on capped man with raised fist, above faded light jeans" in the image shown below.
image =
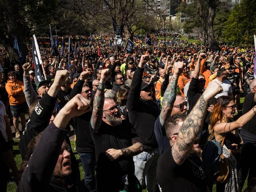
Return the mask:
[[[143,144],[144,151],[147,151],[158,147],[154,124],[160,110],[154,101],[147,102],[140,98],[143,71],[140,67],[135,70],[126,106],[129,120]]]

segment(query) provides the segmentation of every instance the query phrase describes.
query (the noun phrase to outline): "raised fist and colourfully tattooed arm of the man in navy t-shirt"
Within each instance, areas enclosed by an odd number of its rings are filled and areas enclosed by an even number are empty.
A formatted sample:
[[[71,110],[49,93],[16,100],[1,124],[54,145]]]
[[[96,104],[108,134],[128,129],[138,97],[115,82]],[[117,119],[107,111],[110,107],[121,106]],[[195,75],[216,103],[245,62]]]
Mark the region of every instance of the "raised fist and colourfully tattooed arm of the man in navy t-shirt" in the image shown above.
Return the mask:
[[[164,126],[164,123],[168,117],[170,117],[172,113],[172,108],[174,105],[174,101],[176,99],[176,88],[179,75],[182,73],[184,68],[183,62],[174,63],[174,74],[172,75],[172,79],[168,84],[162,101],[162,110],[160,113],[160,123]]]

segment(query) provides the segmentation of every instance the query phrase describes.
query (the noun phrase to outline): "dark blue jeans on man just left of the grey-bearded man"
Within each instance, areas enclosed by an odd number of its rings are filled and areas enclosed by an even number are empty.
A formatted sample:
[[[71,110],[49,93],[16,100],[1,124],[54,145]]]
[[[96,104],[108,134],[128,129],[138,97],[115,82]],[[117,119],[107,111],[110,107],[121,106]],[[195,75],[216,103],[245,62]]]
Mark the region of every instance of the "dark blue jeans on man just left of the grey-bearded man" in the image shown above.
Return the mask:
[[[94,168],[96,164],[95,153],[79,153],[80,161],[84,170],[84,185],[90,191],[94,192],[96,188]]]

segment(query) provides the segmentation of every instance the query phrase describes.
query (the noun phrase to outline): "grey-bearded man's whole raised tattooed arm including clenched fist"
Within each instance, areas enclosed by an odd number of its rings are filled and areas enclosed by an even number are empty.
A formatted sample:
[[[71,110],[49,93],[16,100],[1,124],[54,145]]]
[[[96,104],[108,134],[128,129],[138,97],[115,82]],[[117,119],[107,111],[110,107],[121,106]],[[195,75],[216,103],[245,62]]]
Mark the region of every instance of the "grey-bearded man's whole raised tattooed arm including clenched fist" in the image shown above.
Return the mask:
[[[103,105],[104,105],[104,99],[105,99],[104,98],[105,82],[108,80],[110,75],[111,75],[111,72],[109,69],[103,69],[101,71],[101,80],[99,81],[99,87],[94,96],[91,125],[92,125],[92,129],[95,130],[95,132],[97,132],[102,122]]]

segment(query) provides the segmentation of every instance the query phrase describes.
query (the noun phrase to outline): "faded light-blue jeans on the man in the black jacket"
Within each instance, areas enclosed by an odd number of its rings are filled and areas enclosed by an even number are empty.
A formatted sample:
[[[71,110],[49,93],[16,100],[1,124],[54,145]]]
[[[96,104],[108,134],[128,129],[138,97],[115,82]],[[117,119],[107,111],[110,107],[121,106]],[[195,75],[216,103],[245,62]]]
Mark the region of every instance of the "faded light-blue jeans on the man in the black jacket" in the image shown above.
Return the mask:
[[[143,151],[139,155],[133,157],[135,165],[135,176],[140,181],[142,188],[145,186],[151,192],[156,184],[157,171],[157,149],[153,149],[150,153]]]

